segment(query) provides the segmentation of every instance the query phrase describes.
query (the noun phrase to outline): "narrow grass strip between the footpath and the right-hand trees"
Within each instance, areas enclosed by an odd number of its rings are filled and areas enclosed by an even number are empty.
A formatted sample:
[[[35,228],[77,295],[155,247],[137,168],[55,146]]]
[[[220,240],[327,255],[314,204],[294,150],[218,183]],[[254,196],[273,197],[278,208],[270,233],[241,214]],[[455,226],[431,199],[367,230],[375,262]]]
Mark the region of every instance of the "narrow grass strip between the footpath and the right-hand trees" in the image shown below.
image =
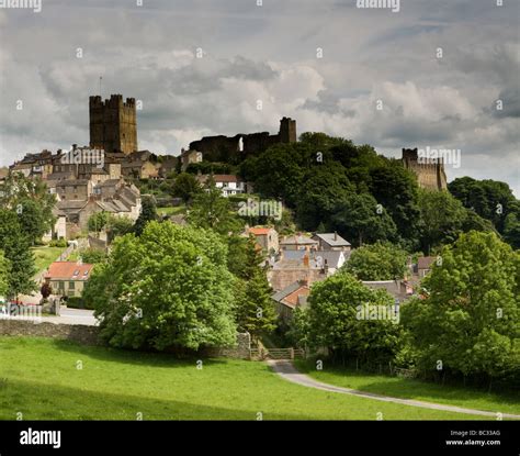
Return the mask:
[[[487,392],[472,388],[439,385],[417,379],[366,374],[324,363],[316,370],[314,362],[296,360],[297,369],[324,383],[374,392],[394,398],[416,399],[489,412],[520,414],[520,393]]]

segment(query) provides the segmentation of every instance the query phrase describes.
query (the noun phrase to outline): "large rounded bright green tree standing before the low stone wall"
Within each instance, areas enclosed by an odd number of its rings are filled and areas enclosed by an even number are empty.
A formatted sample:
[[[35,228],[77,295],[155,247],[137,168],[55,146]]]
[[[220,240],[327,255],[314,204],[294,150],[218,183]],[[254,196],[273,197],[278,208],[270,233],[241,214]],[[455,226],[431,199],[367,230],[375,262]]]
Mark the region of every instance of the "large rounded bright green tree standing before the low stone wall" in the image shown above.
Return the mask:
[[[208,230],[150,222],[118,237],[83,292],[110,345],[166,349],[235,342],[235,279]]]

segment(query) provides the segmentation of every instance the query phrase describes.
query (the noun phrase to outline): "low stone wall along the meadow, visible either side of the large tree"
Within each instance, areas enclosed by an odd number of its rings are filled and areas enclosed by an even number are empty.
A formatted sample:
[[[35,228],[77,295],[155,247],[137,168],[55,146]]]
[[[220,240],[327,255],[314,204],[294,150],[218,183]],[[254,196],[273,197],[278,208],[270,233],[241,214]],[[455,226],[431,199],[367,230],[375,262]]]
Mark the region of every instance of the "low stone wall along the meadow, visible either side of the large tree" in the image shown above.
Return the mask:
[[[82,324],[34,323],[27,320],[0,320],[0,336],[52,337],[77,342],[82,345],[102,345],[99,341],[100,329]],[[238,333],[235,347],[202,348],[199,356],[250,359],[251,336]]]

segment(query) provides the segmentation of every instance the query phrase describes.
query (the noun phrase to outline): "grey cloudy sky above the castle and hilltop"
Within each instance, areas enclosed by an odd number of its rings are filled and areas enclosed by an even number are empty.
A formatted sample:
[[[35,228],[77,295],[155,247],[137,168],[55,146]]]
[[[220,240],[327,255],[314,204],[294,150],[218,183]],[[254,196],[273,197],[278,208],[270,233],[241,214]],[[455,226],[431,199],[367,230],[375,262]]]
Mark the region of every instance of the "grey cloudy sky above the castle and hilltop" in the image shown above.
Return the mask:
[[[519,0],[402,0],[398,12],[355,0],[261,3],[0,9],[0,166],[87,145],[88,99],[102,76],[103,98],[142,100],[139,148],[178,155],[203,135],[275,133],[286,115],[298,133],[323,131],[387,156],[461,149],[450,180],[505,180],[520,197]]]

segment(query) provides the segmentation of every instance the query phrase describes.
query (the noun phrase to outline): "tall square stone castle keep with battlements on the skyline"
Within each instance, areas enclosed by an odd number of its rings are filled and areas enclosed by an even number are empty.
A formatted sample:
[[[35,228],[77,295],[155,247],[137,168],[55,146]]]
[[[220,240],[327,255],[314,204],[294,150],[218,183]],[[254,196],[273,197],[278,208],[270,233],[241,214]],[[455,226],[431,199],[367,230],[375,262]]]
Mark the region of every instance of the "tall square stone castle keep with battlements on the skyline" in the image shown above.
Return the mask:
[[[123,102],[122,94],[112,94],[110,100],[100,96],[90,97],[90,147],[105,152],[131,154],[137,151],[137,114],[135,99]]]

